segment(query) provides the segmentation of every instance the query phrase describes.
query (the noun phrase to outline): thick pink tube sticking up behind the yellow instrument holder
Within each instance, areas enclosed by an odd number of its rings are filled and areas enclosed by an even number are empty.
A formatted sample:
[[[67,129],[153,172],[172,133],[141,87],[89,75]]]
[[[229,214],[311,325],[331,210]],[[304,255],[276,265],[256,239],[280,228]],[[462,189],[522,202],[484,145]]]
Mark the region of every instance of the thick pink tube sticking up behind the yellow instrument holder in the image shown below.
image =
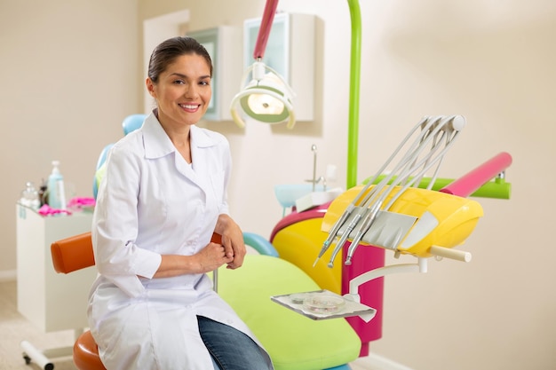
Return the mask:
[[[497,154],[481,166],[468,172],[463,177],[458,178],[449,185],[439,190],[442,193],[449,193],[460,197],[468,197],[482,185],[485,185],[492,178],[503,172],[512,164],[512,156],[505,152]]]

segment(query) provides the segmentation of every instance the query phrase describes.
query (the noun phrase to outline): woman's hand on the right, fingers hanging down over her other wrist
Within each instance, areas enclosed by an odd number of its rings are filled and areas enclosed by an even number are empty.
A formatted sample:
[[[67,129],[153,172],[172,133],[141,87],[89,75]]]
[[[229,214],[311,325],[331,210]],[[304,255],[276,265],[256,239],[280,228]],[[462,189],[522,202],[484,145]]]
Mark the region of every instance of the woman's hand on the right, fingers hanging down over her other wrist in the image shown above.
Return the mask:
[[[247,253],[245,243],[243,243],[243,232],[238,224],[235,224],[232,217],[228,215],[218,216],[215,232],[222,235],[222,246],[226,250],[226,256],[232,258],[227,262],[228,269],[237,269],[243,264],[243,258]]]

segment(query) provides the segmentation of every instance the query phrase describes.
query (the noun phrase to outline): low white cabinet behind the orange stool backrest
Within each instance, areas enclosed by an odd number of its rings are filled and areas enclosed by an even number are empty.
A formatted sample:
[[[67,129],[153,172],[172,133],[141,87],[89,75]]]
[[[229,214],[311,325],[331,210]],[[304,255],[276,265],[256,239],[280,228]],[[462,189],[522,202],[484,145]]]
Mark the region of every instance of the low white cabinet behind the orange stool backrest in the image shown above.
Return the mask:
[[[55,272],[51,244],[91,231],[92,214],[41,216],[17,204],[16,218],[18,311],[44,332],[88,327],[87,299],[97,270]]]

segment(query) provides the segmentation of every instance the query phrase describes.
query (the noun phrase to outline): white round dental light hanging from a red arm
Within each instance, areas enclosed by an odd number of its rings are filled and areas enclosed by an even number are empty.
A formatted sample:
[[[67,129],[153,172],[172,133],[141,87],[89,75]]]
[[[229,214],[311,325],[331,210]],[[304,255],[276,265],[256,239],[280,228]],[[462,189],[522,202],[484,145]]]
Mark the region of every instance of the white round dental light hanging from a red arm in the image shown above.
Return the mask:
[[[278,0],[268,0],[265,4],[253,51],[255,62],[243,74],[242,91],[235,95],[230,106],[232,118],[241,128],[248,119],[269,124],[287,122],[288,129],[295,124],[291,103],[294,92],[281,75],[262,61],[277,5]]]

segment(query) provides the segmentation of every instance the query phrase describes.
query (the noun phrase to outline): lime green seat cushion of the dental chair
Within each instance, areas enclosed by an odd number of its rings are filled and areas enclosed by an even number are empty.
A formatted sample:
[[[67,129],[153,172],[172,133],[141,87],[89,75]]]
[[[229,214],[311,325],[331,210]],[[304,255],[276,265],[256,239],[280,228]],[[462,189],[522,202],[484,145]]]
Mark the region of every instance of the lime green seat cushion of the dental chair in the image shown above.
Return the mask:
[[[320,289],[296,265],[272,256],[247,255],[241,268],[218,270],[218,294],[257,335],[276,370],[326,369],[359,357],[361,341],[345,319],[309,319],[270,299]]]

